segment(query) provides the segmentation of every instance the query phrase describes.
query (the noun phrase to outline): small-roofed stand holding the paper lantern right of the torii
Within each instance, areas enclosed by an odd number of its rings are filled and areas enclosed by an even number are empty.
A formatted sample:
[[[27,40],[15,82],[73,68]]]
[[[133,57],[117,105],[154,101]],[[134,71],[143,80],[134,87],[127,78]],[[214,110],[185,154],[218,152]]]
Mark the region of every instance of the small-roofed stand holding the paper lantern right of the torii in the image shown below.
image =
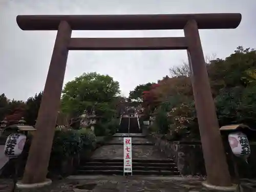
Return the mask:
[[[245,124],[233,124],[233,125],[222,126],[220,128],[220,131],[221,131],[221,133],[224,133],[224,134],[222,134],[225,138],[224,144],[226,146],[228,146],[227,154],[230,154],[232,165],[234,168],[234,177],[236,180],[236,184],[238,185],[238,191],[241,192],[242,187],[241,187],[241,181],[240,181],[240,176],[239,176],[239,171],[238,171],[238,164],[237,164],[237,160],[236,160],[238,157],[236,157],[233,154],[231,146],[230,146],[227,138],[230,133],[242,132],[247,136],[249,131],[255,131],[255,130],[250,129],[250,127]],[[224,145],[224,147],[225,147],[225,145]]]

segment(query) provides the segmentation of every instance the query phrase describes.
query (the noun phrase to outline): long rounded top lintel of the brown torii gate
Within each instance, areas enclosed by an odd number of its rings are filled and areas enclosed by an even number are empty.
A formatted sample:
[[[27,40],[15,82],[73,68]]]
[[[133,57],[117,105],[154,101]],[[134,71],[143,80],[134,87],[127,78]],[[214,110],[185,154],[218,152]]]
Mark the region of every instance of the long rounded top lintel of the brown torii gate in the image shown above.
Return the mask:
[[[72,30],[164,30],[183,29],[195,19],[198,29],[234,29],[240,13],[157,14],[157,15],[18,15],[22,30],[58,30],[66,20]]]

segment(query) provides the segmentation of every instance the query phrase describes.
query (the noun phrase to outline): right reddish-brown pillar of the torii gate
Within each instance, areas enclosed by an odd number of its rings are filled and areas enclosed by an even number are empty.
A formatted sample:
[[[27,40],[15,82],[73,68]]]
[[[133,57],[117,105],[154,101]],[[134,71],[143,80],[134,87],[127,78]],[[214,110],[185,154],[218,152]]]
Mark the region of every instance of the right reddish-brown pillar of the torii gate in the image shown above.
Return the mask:
[[[198,26],[195,20],[189,20],[184,27],[184,34],[188,42],[187,53],[191,69],[191,82],[201,135],[207,183],[217,186],[231,186],[215,104],[212,98]]]

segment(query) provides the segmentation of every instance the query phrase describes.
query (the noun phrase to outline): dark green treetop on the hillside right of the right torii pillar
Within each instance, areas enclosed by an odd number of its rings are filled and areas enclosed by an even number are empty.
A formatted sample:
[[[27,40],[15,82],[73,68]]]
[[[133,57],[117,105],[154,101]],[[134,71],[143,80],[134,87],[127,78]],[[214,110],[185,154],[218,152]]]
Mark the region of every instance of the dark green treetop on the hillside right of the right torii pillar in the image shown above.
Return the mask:
[[[253,49],[239,46],[230,56],[213,60],[207,67],[212,92],[217,95],[223,88],[246,86],[244,78],[250,80],[256,69],[256,54]]]

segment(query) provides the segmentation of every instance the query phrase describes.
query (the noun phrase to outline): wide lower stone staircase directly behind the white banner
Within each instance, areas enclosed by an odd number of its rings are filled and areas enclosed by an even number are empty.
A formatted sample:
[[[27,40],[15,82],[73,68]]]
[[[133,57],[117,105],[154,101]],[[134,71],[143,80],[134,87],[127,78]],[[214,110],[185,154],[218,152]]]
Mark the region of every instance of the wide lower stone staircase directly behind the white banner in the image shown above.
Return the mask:
[[[142,134],[115,134],[90,161],[81,162],[76,175],[123,175],[123,137],[132,137],[133,175],[179,175],[172,159],[159,152]]]

